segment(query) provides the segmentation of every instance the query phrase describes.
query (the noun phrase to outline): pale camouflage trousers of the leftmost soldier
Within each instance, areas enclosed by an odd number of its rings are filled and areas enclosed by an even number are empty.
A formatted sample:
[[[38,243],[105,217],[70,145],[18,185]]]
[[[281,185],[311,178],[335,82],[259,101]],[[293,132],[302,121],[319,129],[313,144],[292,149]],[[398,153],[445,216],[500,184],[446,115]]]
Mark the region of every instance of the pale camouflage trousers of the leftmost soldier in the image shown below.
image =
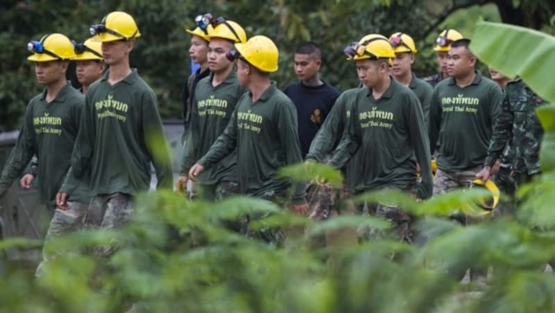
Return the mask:
[[[46,237],[44,238],[42,261],[37,267],[35,276],[39,277],[43,274],[44,266],[49,260],[68,252],[59,249],[52,251],[50,242],[53,238],[60,235],[83,229],[87,216],[87,208],[88,204],[74,201],[67,202],[67,210],[56,208],[52,220],[50,221],[48,231],[46,232]]]

